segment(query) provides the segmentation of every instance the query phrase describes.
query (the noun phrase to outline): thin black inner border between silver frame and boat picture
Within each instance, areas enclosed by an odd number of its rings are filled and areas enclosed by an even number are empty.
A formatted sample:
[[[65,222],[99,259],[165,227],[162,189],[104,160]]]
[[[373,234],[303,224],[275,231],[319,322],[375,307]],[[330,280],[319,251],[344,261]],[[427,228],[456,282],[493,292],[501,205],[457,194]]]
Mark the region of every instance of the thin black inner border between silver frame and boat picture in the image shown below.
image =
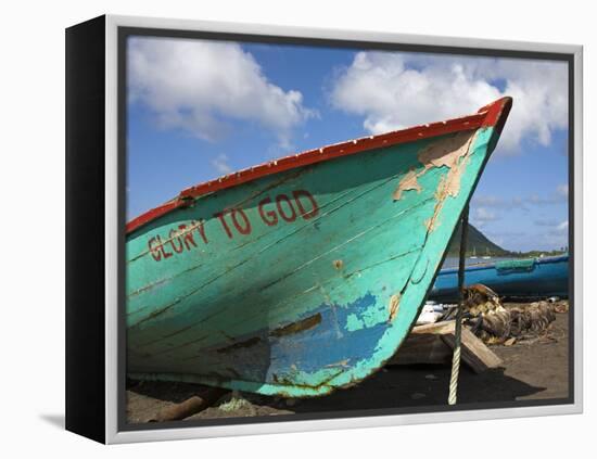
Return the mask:
[[[316,33],[316,31],[314,31]],[[348,35],[350,31],[346,31]],[[204,39],[217,41],[236,41],[262,44],[277,46],[310,46],[320,48],[344,48],[359,51],[401,51],[419,52],[433,54],[456,54],[465,56],[484,56],[484,58],[510,58],[526,60],[546,60],[560,61],[568,63],[568,247],[569,247],[569,323],[568,323],[568,388],[567,398],[550,398],[539,400],[512,400],[505,403],[474,403],[459,404],[455,406],[424,406],[424,407],[404,407],[404,408],[374,408],[345,411],[318,411],[312,413],[293,413],[279,416],[256,416],[251,418],[226,418],[226,419],[205,419],[195,421],[172,421],[160,423],[128,423],[126,420],[126,263],[125,263],[125,243],[126,243],[126,135],[127,135],[127,39],[132,36],[161,37],[161,38],[187,38]],[[442,41],[441,37],[436,38]],[[472,41],[472,39],[471,39]],[[162,429],[180,428],[200,428],[213,425],[240,425],[258,424],[271,422],[306,421],[306,420],[326,420],[359,417],[396,416],[412,413],[433,413],[433,412],[458,412],[467,410],[481,409],[507,409],[523,407],[539,407],[552,405],[572,405],[574,404],[574,54],[543,52],[543,51],[519,51],[519,50],[499,50],[490,48],[470,48],[442,44],[412,44],[399,42],[381,42],[364,40],[344,40],[344,39],[323,39],[305,37],[287,37],[276,35],[257,34],[236,34],[219,31],[183,30],[168,28],[149,28],[149,27],[117,27],[117,163],[118,163],[118,327],[117,327],[117,430],[118,432],[147,431]],[[516,101],[515,101],[516,102]]]

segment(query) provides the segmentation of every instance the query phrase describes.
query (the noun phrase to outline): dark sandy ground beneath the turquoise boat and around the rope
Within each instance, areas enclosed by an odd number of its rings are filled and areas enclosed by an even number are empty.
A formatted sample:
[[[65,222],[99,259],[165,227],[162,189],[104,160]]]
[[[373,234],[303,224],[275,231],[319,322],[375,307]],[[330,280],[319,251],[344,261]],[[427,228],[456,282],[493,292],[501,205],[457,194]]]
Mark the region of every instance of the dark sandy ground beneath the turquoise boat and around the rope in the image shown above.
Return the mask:
[[[568,387],[568,314],[557,314],[546,332],[516,342],[492,345],[503,368],[473,373],[462,366],[458,403],[511,403],[566,398]],[[228,393],[188,420],[313,413],[379,408],[445,406],[449,366],[386,367],[355,387],[326,397],[283,399],[247,393]],[[205,393],[199,384],[130,381],[127,419],[148,422],[165,407]]]

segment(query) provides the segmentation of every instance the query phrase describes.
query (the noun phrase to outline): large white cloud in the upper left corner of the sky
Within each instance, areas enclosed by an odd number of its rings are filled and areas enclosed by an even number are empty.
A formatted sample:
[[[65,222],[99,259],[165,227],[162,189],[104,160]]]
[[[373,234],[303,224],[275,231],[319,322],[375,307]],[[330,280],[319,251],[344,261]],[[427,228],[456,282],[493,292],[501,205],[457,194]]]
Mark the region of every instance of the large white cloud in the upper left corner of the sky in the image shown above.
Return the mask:
[[[281,145],[312,116],[300,91],[284,91],[264,75],[238,43],[174,38],[131,38],[128,48],[131,101],[149,106],[164,128],[214,141],[225,118],[254,120]]]

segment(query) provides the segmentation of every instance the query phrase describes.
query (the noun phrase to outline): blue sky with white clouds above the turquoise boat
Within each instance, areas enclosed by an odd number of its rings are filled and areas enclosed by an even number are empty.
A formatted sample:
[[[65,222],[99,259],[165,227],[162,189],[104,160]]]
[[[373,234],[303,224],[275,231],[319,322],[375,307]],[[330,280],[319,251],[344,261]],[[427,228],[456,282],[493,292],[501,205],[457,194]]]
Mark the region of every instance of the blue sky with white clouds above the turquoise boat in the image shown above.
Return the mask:
[[[134,37],[128,68],[128,219],[237,169],[508,94],[471,221],[508,250],[567,245],[563,63]]]

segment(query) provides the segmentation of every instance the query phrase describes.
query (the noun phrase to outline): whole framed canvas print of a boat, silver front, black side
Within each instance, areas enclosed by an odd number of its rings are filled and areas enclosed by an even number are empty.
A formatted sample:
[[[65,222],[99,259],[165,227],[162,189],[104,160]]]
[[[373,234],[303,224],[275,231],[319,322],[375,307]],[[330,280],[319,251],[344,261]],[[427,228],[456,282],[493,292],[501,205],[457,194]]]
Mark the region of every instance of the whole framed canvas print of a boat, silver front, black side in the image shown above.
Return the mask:
[[[66,30],[66,428],[582,410],[582,48]]]

